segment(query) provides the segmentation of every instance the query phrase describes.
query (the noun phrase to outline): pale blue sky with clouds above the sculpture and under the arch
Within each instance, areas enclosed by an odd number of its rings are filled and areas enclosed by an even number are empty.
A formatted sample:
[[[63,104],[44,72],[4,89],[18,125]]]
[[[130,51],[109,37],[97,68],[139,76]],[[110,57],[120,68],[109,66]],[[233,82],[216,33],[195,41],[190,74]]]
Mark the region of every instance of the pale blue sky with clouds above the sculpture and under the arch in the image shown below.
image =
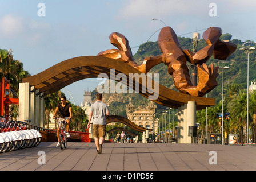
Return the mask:
[[[38,3],[45,4],[46,16],[38,16]],[[209,15],[210,3],[217,5],[217,16]],[[35,75],[72,57],[115,48],[109,42],[112,32],[125,35],[135,54],[137,46],[165,24],[185,37],[217,26],[232,39],[255,42],[255,7],[255,0],[1,0],[0,48],[12,49],[14,59]],[[157,37],[158,33],[150,40]],[[98,82],[81,80],[65,89],[80,105],[84,90],[95,89]],[[73,102],[66,90],[62,92]]]

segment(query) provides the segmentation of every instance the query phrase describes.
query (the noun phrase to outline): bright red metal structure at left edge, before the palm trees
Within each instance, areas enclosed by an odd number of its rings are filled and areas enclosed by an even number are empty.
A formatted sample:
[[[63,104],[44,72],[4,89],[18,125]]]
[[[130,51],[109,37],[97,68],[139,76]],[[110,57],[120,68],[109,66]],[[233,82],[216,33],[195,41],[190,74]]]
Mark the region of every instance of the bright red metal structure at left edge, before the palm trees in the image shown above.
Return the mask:
[[[10,98],[10,81],[2,78],[0,86],[0,115],[9,114],[10,104],[19,104],[18,98]],[[4,112],[5,110],[5,112]]]

